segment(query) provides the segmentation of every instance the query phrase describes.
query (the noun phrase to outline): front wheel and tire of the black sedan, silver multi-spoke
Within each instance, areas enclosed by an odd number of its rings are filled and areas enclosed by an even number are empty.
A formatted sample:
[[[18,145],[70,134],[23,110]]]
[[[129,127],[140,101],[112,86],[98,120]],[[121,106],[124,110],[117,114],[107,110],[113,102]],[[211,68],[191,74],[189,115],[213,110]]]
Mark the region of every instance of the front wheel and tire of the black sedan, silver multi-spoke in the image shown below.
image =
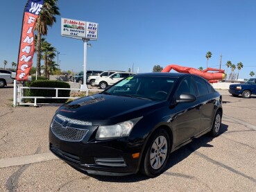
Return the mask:
[[[148,177],[156,177],[165,171],[171,150],[169,134],[164,129],[156,130],[148,139],[140,172]]]

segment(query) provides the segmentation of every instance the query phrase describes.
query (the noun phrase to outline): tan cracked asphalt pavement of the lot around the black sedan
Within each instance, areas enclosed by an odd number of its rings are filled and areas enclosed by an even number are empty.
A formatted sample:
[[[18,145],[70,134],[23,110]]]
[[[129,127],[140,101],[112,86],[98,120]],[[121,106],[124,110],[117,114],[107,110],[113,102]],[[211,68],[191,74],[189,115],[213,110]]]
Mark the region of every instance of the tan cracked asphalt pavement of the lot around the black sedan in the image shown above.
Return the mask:
[[[256,96],[219,90],[219,137],[173,152],[162,175],[106,177],[80,173],[52,155],[49,125],[58,107],[12,107],[12,86],[0,89],[0,191],[256,191]]]

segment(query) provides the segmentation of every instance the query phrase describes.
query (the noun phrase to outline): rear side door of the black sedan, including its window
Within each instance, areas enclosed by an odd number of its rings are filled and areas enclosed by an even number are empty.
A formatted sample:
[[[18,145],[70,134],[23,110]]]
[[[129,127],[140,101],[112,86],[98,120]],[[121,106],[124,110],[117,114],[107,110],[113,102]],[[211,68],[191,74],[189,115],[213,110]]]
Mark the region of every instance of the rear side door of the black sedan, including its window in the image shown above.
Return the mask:
[[[198,77],[194,77],[194,80],[198,89],[198,100],[201,103],[200,132],[203,132],[212,127],[216,99],[212,96],[214,89],[206,80]]]

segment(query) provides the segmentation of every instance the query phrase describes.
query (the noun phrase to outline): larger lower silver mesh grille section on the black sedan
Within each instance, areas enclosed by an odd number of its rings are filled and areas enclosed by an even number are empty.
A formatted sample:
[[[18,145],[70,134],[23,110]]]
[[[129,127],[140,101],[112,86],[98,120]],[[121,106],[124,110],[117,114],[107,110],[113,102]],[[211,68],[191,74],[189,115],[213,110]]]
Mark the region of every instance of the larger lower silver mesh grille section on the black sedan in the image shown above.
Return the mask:
[[[53,120],[51,131],[61,140],[64,141],[81,141],[88,130],[64,127],[57,121]]]

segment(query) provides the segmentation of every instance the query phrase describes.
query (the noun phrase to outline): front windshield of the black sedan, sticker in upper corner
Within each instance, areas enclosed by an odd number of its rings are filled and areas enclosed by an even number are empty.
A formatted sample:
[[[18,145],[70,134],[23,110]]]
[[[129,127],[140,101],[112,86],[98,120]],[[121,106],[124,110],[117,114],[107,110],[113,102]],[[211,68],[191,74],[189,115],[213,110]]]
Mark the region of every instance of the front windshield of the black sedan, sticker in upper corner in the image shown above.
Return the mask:
[[[165,101],[176,80],[177,78],[164,76],[129,76],[102,94]]]

